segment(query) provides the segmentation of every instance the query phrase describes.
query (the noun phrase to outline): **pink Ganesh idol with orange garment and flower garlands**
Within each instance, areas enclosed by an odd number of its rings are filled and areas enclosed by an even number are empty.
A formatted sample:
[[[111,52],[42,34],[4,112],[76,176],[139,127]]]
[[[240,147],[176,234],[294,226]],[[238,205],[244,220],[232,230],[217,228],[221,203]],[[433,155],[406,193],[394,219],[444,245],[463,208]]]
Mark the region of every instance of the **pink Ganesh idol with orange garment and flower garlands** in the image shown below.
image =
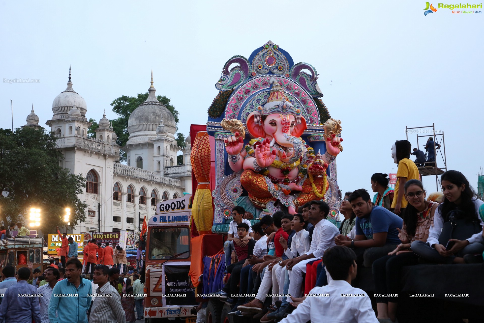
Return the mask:
[[[241,129],[224,140],[228,165],[234,172],[242,171],[241,185],[256,206],[265,208],[279,200],[295,214],[304,203],[324,199],[329,185],[326,169],[343,150],[341,125],[333,119],[324,124],[326,152],[315,152],[301,138],[306,130],[302,111],[289,102],[274,77],[270,83],[267,103],[246,120],[253,139],[244,146]]]

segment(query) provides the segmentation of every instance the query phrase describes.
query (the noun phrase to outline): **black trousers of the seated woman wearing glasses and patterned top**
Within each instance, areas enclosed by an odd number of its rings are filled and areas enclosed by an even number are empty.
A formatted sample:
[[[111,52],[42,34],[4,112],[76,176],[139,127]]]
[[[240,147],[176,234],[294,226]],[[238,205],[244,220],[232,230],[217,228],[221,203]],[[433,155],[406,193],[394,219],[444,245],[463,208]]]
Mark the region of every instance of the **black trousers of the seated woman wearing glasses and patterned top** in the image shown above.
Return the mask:
[[[376,294],[398,294],[403,266],[418,264],[419,257],[413,252],[381,257],[373,262],[372,272]],[[375,297],[377,303],[397,303],[398,297]]]

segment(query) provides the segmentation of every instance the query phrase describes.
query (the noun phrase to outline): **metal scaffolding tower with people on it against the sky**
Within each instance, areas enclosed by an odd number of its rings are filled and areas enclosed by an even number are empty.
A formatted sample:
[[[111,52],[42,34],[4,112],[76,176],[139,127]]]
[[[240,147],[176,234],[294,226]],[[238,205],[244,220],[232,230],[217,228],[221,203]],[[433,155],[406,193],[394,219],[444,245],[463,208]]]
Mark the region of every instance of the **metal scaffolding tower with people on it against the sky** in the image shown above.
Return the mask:
[[[417,149],[419,149],[419,138],[429,138],[433,137],[434,139],[434,152],[435,152],[435,160],[430,161],[427,159],[427,154],[425,154],[425,159],[427,160],[424,163],[424,166],[418,167],[419,173],[421,176],[435,176],[435,185],[437,191],[440,191],[439,189],[439,175],[441,175],[443,172],[447,171],[447,158],[445,157],[445,140],[444,140],[444,132],[443,131],[438,131],[438,133],[435,132],[435,123],[432,123],[432,125],[427,125],[423,127],[405,127],[406,128],[406,134],[407,134],[407,140],[408,140],[408,133],[415,133],[417,135]],[[419,129],[419,130],[413,130],[413,129]],[[420,130],[422,129],[422,130]],[[426,145],[426,144],[425,144]],[[423,145],[423,146],[425,146]],[[440,148],[437,148],[437,146],[440,145]],[[442,152],[443,151],[443,152]]]

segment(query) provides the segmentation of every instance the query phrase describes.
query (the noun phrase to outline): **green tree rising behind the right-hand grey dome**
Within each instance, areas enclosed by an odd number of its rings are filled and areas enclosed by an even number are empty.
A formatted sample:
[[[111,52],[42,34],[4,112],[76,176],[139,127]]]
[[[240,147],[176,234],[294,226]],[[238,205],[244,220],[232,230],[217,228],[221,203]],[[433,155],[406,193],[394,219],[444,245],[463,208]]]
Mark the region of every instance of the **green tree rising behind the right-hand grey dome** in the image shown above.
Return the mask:
[[[163,103],[168,110],[170,110],[170,112],[173,114],[173,117],[175,118],[175,123],[178,124],[179,113],[176,108],[170,104],[170,99],[167,98],[165,95],[158,95],[156,98],[158,99],[158,101]],[[113,107],[113,112],[116,112],[120,116],[119,118],[112,120],[112,125],[114,131],[116,132],[116,135],[118,136],[116,143],[121,147],[126,145],[126,142],[128,141],[128,119],[131,112],[133,112],[137,107],[145,102],[146,99],[148,99],[148,92],[138,93],[136,96],[123,95],[115,99],[111,103],[111,106]],[[123,152],[120,155],[120,161],[124,160],[126,160],[126,153]]]

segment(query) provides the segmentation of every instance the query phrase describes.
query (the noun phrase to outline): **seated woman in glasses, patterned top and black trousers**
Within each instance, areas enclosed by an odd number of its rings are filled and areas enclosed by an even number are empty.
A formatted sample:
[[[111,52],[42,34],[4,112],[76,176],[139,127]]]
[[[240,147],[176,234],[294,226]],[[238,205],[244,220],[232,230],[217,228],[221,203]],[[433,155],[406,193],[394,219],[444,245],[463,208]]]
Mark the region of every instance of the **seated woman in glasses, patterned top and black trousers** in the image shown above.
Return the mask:
[[[381,294],[398,294],[400,292],[400,277],[403,266],[416,265],[418,256],[411,252],[413,241],[425,241],[433,223],[433,217],[438,203],[425,200],[422,182],[409,180],[405,183],[405,199],[408,205],[403,214],[403,226],[398,238],[402,242],[388,256],[373,262],[373,277],[375,292]],[[390,323],[396,320],[398,297],[376,297],[378,321]]]

